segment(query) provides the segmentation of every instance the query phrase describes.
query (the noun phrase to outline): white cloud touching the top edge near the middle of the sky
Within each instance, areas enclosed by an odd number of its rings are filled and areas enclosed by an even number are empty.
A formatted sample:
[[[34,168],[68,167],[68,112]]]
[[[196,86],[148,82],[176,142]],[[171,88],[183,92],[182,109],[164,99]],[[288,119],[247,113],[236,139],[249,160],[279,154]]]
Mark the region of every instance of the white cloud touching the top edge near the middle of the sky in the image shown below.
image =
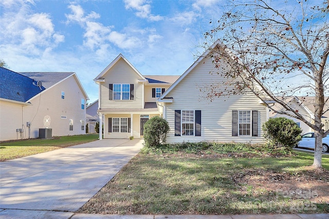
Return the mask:
[[[134,9],[137,12],[136,16],[150,21],[160,21],[163,17],[160,15],[151,14],[151,5],[145,0],[124,0],[125,9]]]

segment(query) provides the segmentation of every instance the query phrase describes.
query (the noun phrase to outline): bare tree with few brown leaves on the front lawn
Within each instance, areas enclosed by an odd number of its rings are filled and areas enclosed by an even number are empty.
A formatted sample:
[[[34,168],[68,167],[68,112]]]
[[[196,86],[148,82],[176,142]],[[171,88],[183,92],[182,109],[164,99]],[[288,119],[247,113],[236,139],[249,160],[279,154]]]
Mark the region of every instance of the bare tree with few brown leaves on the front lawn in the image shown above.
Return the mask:
[[[313,166],[321,168],[322,138],[329,134],[321,122],[329,111],[328,2],[231,1],[224,10],[205,33],[203,46],[209,48],[220,39],[211,56],[218,75],[231,79],[229,86],[234,88],[215,84],[208,89],[208,98],[251,90],[273,112],[303,121],[315,131]],[[229,70],[222,67],[223,61]],[[312,122],[288,104],[291,96],[314,96]],[[272,107],[273,102],[284,110]]]

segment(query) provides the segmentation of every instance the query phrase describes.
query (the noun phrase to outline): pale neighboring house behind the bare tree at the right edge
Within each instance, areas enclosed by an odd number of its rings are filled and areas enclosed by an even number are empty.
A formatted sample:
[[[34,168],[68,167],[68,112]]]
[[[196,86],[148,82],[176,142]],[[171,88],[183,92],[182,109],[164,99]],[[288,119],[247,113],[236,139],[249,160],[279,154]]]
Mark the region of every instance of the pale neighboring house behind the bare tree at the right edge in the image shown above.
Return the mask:
[[[310,123],[313,123],[314,121],[314,103],[315,103],[315,99],[314,97],[291,97],[287,99],[288,104],[290,106],[292,106],[296,111],[298,111],[299,114],[301,114],[302,116],[304,116],[304,118],[309,121]],[[284,110],[282,108],[282,106],[280,107],[278,104],[276,104],[275,106],[276,110],[280,111]],[[324,111],[326,111],[326,109],[329,109],[329,103],[326,103],[324,106]],[[278,114],[278,113],[274,113],[270,111],[269,114],[270,118],[277,118],[277,117],[285,117],[288,119],[291,119],[293,121],[295,121],[299,127],[302,129],[303,133],[307,133],[307,132],[314,132],[314,130],[309,127],[308,125],[306,125],[303,121],[296,119],[294,117],[291,117],[289,115],[285,115],[285,114]],[[322,123],[324,124],[324,127],[322,129],[324,129],[324,131],[329,130],[329,111],[327,111],[323,116],[322,116]]]

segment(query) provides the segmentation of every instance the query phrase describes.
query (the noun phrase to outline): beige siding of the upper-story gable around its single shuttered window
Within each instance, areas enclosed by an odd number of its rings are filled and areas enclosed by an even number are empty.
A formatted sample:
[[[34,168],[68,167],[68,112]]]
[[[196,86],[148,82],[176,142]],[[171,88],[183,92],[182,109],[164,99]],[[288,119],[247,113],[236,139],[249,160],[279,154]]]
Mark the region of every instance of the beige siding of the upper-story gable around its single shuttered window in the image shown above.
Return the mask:
[[[143,83],[140,76],[123,59],[120,59],[103,77],[100,83],[101,108],[142,108]],[[109,84],[134,84],[134,100],[109,100]]]

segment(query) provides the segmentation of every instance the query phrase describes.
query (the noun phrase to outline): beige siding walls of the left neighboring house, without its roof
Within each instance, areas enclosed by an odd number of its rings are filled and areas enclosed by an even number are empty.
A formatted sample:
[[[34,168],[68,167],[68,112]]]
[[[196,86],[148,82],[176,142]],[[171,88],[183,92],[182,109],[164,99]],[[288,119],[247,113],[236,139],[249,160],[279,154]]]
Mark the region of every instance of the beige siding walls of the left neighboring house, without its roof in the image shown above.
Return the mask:
[[[61,92],[65,92],[65,99],[62,99]],[[30,100],[31,105],[22,106],[17,105],[17,109],[8,109],[1,111],[3,117],[10,116],[13,121],[9,123],[10,129],[14,129],[16,132],[16,120],[19,120],[20,123],[23,123],[24,129],[24,138],[28,138],[28,127],[26,126],[27,122],[31,122],[30,127],[30,138],[39,137],[39,129],[48,127],[52,129],[52,136],[64,136],[64,135],[80,135],[85,134],[84,130],[81,130],[81,121],[85,120],[85,109],[81,109],[81,99],[85,99],[83,91],[77,84],[77,81],[74,76],[71,76],[59,84],[44,90],[38,96],[35,96]],[[86,107],[85,107],[86,108]],[[22,121],[22,111],[23,111],[23,121]],[[66,116],[66,119],[61,119],[61,116]],[[19,119],[16,119],[19,118]],[[48,119],[49,125],[45,125],[45,120]],[[73,131],[69,131],[69,121],[73,119]],[[2,119],[1,119],[2,120]],[[3,120],[2,120],[3,121]],[[22,124],[20,124],[22,127]],[[2,129],[3,130],[3,129]],[[5,138],[8,138],[8,134],[4,134]],[[14,135],[16,139],[16,133],[10,134]]]

